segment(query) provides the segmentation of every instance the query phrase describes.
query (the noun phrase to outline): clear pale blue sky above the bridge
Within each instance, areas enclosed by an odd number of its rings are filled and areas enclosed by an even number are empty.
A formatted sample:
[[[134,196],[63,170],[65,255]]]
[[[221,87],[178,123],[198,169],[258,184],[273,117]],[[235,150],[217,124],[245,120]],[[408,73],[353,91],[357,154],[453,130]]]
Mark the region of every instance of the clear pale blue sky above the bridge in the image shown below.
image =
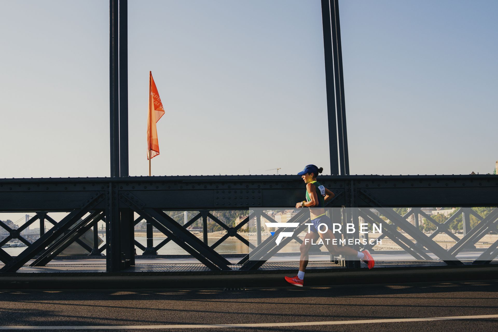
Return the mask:
[[[109,176],[109,4],[0,0],[0,178]],[[330,174],[319,0],[129,1],[129,169]],[[340,1],[352,174],[492,172],[498,1]]]

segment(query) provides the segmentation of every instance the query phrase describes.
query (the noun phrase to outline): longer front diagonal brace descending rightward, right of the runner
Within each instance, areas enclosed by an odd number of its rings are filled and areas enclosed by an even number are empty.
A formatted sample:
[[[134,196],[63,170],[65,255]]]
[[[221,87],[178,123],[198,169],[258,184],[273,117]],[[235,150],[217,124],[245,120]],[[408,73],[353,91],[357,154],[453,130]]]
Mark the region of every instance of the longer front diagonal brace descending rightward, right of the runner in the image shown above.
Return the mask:
[[[378,198],[376,198],[372,192],[367,189],[362,189],[360,191],[360,195],[368,202],[370,206],[380,212],[382,215],[387,217],[395,226],[398,226],[402,230],[404,230],[408,235],[416,239],[421,245],[426,247],[429,251],[434,253],[439,257],[442,261],[444,261],[448,265],[463,265],[463,263],[457,259],[457,257],[444,250],[439,244],[430,239],[427,235],[422,233],[420,229],[412,225],[407,220],[404,220],[400,215],[395,213],[392,210],[386,209],[382,207]]]

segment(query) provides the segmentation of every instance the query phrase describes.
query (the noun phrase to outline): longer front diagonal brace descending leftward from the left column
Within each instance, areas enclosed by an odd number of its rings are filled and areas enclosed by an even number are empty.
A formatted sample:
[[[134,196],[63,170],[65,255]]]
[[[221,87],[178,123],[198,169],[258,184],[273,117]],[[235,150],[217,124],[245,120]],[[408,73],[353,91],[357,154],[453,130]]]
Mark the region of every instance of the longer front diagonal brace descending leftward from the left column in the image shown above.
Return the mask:
[[[44,250],[46,247],[50,246],[52,242],[57,240],[57,238],[64,233],[80,218],[85,216],[89,211],[93,211],[93,208],[102,202],[105,198],[104,193],[95,192],[89,197],[84,203],[80,204],[78,209],[70,212],[66,217],[59,221],[56,225],[50,228],[45,234],[40,236],[36,241],[34,241],[29,247],[22,251],[10,262],[5,264],[0,269],[0,272],[15,272],[21,268],[30,259],[34,258],[40,251]]]

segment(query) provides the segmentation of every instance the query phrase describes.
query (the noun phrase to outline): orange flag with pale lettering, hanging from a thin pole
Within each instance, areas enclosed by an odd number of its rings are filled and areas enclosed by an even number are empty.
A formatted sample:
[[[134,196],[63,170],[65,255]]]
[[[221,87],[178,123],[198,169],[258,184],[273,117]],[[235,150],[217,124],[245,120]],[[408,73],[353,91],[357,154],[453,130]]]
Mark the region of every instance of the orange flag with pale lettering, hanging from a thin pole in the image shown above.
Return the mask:
[[[149,116],[147,118],[147,159],[152,159],[159,154],[159,140],[157,139],[156,122],[164,114],[161,98],[149,72]]]

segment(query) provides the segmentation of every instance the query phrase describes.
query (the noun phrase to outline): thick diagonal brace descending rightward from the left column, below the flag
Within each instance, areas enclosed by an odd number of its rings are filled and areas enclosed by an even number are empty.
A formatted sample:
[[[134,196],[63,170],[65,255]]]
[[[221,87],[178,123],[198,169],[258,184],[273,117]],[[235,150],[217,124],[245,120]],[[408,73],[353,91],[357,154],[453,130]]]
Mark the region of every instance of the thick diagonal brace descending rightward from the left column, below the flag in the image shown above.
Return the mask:
[[[131,210],[143,217],[146,221],[150,222],[163,234],[171,238],[183,250],[194,256],[202,264],[206,265],[209,269],[214,271],[229,271],[231,268],[228,266],[231,263],[217,253],[214,249],[210,248],[207,244],[202,242],[194,234],[185,229],[182,225],[174,219],[166,215],[160,209],[143,208],[145,204],[140,202],[140,206],[135,204],[138,201],[136,197],[125,193],[127,196],[133,198],[129,199],[120,193],[119,199],[127,205]]]

